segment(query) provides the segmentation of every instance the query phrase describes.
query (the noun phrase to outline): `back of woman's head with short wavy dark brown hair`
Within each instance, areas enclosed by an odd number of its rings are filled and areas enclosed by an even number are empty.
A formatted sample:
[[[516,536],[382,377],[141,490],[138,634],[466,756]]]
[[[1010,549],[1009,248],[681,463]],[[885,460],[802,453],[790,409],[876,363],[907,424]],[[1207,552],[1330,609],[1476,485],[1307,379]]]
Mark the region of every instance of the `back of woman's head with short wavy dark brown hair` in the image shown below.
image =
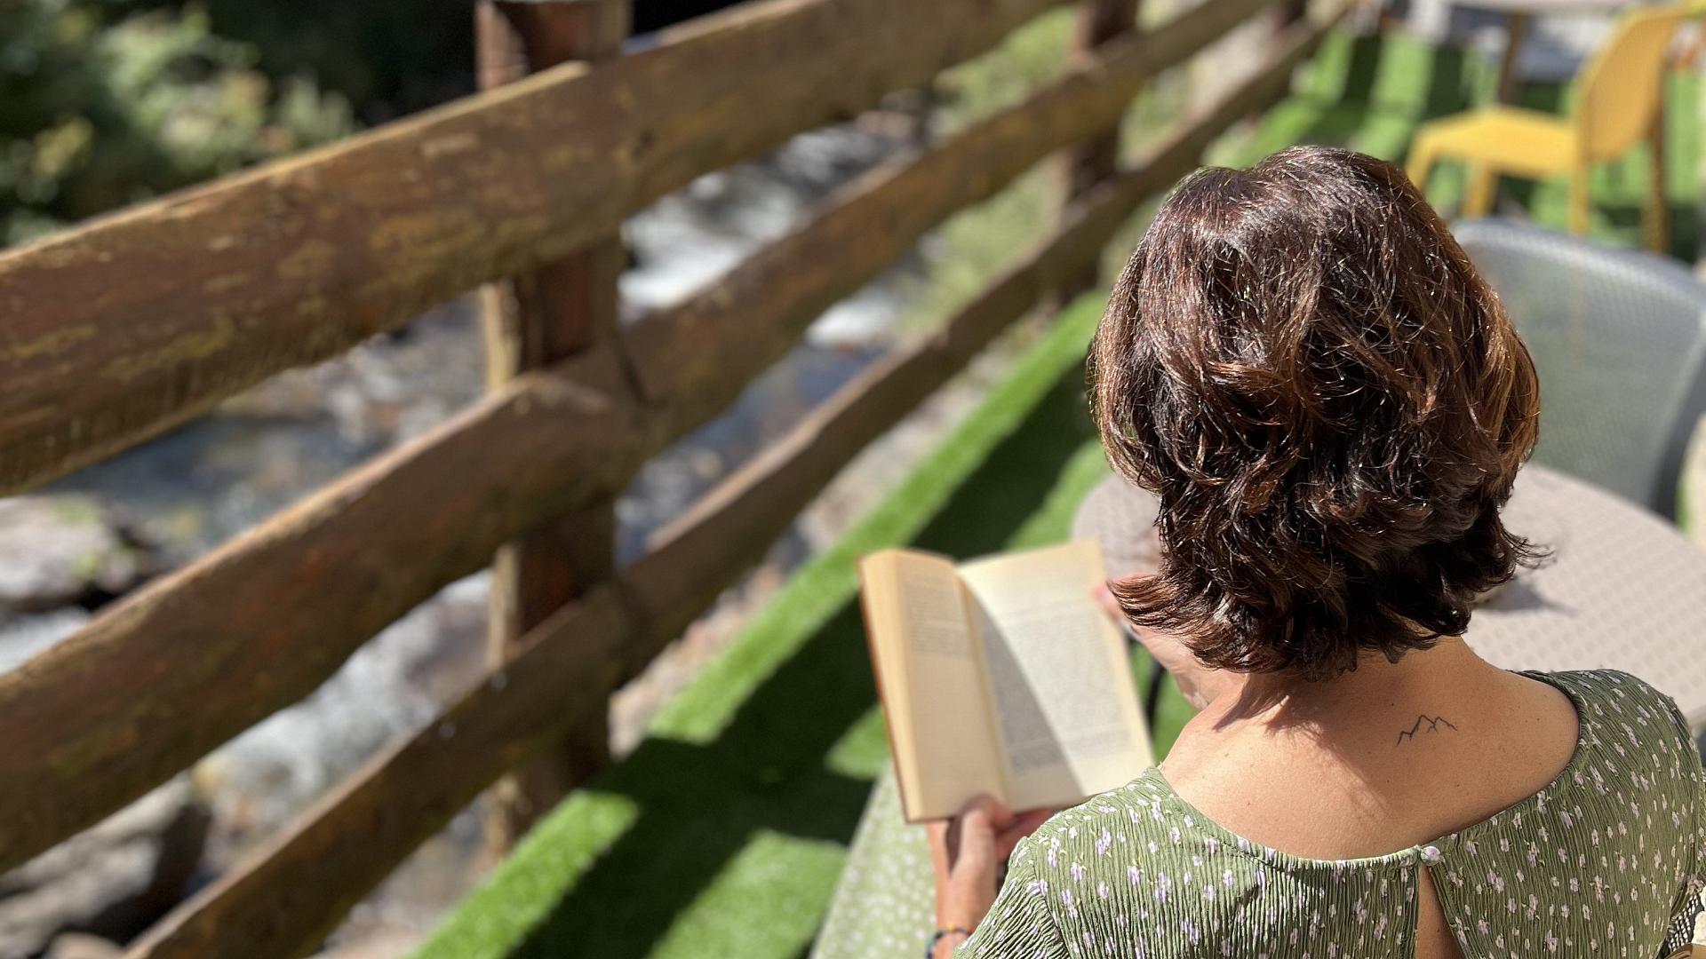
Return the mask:
[[[1116,594],[1211,667],[1396,660],[1529,556],[1498,510],[1535,440],[1534,365],[1385,162],[1295,147],[1187,177],[1090,382],[1114,468],[1160,497],[1162,568]]]

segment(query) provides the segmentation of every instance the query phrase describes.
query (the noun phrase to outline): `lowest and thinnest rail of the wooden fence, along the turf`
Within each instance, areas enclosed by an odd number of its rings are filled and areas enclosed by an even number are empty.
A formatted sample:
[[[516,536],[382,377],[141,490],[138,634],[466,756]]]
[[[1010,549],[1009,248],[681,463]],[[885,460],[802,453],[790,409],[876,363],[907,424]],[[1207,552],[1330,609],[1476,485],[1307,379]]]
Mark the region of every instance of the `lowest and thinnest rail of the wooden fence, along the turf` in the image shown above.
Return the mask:
[[[863,449],[960,370],[996,334],[1094,263],[1145,198],[1196,164],[1252,109],[1285,94],[1324,26],[1298,27],[1285,49],[1134,171],[1087,193],[1059,229],[1020,256],[933,336],[897,350],[730,476],[657,538],[616,584],[532,630],[420,734],[399,742],[297,821],[266,850],[184,903],[128,959],[297,956],[360,896],[437,833],[503,770],[570,724],[604,708],[606,684],[636,676],[756,561],[793,515]],[[587,689],[585,696],[565,691]]]

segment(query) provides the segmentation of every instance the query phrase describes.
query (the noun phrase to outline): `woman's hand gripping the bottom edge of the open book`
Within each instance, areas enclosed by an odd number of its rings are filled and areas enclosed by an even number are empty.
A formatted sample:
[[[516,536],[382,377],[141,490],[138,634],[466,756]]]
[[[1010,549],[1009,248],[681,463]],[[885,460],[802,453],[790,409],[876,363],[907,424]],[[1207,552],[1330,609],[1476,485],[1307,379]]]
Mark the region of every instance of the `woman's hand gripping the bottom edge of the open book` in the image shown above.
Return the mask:
[[[937,928],[974,928],[995,903],[996,874],[1013,846],[1053,816],[1047,809],[1013,814],[979,795],[952,819],[930,824],[930,863],[937,874]],[[949,937],[950,940],[954,937]],[[947,956],[959,940],[943,942]]]

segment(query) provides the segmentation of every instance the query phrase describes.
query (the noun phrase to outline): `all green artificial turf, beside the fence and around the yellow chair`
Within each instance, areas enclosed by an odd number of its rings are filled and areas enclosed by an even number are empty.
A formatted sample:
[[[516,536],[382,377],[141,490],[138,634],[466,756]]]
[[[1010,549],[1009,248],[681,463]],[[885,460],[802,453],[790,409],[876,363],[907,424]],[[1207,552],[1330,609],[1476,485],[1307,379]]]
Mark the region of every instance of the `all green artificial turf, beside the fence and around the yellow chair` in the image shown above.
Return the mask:
[[[1058,41],[1047,31],[1039,44]],[[1472,55],[1339,32],[1290,99],[1210,157],[1249,164],[1317,142],[1401,162],[1419,121],[1486,102],[1491,84],[1491,67]],[[1670,84],[1672,251],[1692,259],[1696,80]],[[1530,87],[1523,97],[1559,108],[1568,90]],[[1645,159],[1595,176],[1595,234],[1636,244]],[[1460,186],[1447,167],[1430,198],[1450,213]],[[1544,225],[1564,222],[1561,183],[1506,183],[1503,198]],[[974,415],[800,570],[669,703],[633,756],[544,819],[420,956],[802,957],[887,763],[853,563],[894,544],[969,558],[1066,536],[1105,469],[1082,384],[1099,309],[1099,299],[1083,299],[1065,311]],[[1146,671],[1141,657],[1136,671]],[[1158,749],[1187,717],[1169,686]]]

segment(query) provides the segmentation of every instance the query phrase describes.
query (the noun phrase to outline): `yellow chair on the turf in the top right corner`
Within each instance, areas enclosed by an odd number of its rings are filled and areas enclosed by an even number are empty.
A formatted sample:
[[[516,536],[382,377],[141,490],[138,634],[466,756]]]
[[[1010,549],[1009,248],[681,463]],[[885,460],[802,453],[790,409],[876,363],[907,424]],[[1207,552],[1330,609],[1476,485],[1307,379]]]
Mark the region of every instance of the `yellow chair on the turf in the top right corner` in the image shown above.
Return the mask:
[[[1588,164],[1624,155],[1646,140],[1651,179],[1641,227],[1646,244],[1665,251],[1663,72],[1677,27],[1701,12],[1699,3],[1626,14],[1581,73],[1568,118],[1534,109],[1491,106],[1426,123],[1416,131],[1407,172],[1418,188],[1438,160],[1469,164],[1464,215],[1484,217],[1498,177],[1570,177],[1570,232],[1588,230]]]

